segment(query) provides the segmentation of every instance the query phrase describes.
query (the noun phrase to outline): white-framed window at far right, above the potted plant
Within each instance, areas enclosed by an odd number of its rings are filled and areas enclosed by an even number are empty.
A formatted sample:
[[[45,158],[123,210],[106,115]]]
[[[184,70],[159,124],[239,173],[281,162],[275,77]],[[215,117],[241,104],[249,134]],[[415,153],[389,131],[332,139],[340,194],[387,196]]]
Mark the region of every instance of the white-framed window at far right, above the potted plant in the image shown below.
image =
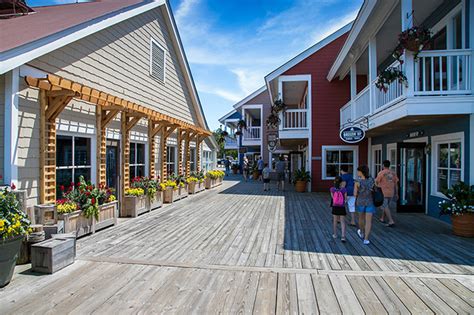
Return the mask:
[[[464,133],[431,137],[432,143],[432,194],[442,192],[464,180]]]

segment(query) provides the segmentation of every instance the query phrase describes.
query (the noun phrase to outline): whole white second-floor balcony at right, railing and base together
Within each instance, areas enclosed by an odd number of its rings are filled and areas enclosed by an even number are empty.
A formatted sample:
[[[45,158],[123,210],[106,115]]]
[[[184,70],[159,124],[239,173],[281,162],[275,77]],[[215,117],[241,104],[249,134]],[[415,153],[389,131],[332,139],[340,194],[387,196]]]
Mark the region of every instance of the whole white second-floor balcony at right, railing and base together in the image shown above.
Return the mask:
[[[386,91],[373,80],[340,110],[341,125],[369,117],[369,129],[400,115],[467,114],[474,100],[472,57],[469,49],[423,51],[403,67],[406,84],[392,82]],[[411,67],[411,69],[407,69]],[[394,110],[397,110],[395,114]]]

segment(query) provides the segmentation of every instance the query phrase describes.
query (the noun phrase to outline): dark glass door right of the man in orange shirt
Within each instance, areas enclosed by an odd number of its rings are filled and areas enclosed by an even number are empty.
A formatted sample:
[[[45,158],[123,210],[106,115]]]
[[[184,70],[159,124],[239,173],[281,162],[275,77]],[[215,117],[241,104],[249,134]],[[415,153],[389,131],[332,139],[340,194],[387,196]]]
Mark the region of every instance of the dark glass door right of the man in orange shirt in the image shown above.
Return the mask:
[[[425,143],[398,143],[400,180],[398,212],[424,212],[426,191]]]

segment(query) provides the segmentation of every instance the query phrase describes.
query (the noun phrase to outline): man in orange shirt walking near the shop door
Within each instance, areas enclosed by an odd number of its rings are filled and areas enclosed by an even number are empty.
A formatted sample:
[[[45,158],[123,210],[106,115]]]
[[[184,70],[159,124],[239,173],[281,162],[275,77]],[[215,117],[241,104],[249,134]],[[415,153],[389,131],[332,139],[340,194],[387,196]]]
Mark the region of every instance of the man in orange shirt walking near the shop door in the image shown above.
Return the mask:
[[[398,177],[390,169],[390,161],[383,161],[383,170],[377,174],[375,184],[382,189],[383,192],[383,204],[380,207],[382,209],[382,216],[380,222],[385,223],[385,216],[388,219],[386,226],[392,227],[395,225],[392,214],[390,213],[390,206],[398,199]]]

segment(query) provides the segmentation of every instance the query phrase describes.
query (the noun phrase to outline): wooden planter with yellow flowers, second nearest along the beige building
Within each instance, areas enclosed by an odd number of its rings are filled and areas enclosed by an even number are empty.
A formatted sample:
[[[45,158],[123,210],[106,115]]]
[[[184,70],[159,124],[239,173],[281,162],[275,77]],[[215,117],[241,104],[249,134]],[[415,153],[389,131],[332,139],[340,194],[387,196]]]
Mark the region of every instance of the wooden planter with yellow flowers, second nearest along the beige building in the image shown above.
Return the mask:
[[[141,177],[132,179],[130,188],[125,190],[124,204],[120,207],[121,217],[137,217],[149,211],[145,189],[145,181]]]

